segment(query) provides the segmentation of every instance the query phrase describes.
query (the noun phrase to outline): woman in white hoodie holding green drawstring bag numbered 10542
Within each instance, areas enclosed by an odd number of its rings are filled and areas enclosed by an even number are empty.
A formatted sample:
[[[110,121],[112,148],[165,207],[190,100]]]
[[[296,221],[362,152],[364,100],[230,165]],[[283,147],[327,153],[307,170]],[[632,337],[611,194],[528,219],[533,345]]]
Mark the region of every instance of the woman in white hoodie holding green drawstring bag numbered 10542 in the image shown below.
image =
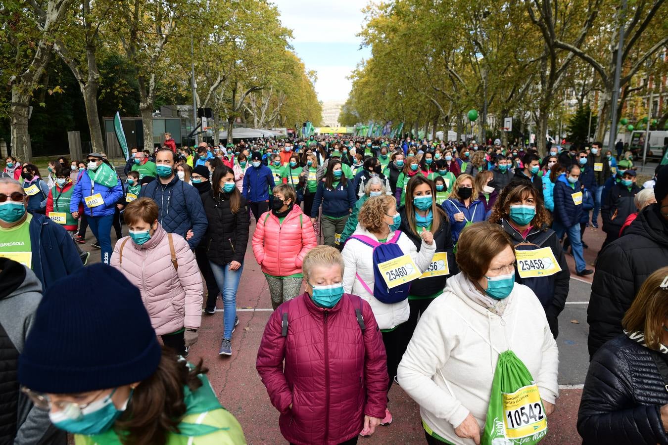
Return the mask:
[[[512,240],[476,223],[462,232],[456,261],[462,272],[420,318],[397,372],[428,444],[480,443],[500,352],[524,363],[546,415],[558,396],[556,343],[534,292],[514,281]]]

